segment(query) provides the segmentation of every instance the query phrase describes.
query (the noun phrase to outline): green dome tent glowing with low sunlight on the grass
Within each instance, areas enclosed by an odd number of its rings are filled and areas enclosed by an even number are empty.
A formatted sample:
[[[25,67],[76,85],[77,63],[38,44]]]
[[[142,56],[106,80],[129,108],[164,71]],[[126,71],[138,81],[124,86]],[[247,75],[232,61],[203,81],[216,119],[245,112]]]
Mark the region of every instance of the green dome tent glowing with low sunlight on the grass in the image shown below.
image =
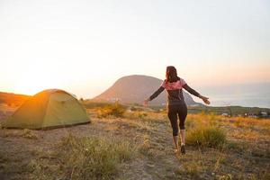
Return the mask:
[[[72,94],[49,89],[29,98],[3,121],[4,128],[48,129],[90,122],[84,107]]]

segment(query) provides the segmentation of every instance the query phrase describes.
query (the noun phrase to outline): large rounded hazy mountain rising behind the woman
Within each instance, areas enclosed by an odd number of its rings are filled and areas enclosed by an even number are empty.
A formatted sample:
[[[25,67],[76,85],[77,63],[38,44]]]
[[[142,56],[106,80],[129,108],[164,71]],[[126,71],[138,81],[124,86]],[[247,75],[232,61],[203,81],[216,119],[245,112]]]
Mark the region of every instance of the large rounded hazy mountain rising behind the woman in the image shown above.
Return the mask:
[[[153,76],[123,76],[102,94],[94,97],[94,100],[119,100],[121,103],[142,103],[145,98],[157,90],[161,83],[161,79]],[[188,105],[201,104],[194,102],[191,95],[185,92],[184,100]],[[157,96],[157,98],[151,102],[153,105],[161,105],[164,103],[166,103],[166,91],[159,94],[159,96]]]

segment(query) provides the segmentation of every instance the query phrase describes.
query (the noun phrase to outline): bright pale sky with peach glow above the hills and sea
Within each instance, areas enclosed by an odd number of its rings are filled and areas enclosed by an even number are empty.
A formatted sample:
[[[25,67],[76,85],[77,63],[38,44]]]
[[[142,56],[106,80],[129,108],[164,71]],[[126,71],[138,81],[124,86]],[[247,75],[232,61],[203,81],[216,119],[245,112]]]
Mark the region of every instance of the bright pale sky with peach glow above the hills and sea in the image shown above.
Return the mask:
[[[121,76],[270,82],[264,0],[0,0],[0,91],[90,98]]]

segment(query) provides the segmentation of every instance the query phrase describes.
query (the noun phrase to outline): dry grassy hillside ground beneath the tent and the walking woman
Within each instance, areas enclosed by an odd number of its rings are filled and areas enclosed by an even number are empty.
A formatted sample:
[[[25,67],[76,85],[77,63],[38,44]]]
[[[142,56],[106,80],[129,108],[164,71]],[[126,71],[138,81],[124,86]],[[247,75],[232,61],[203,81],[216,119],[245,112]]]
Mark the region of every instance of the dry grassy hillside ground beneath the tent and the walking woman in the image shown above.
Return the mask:
[[[269,179],[270,121],[189,114],[186,155],[166,112],[88,109],[91,124],[0,130],[0,179]]]

